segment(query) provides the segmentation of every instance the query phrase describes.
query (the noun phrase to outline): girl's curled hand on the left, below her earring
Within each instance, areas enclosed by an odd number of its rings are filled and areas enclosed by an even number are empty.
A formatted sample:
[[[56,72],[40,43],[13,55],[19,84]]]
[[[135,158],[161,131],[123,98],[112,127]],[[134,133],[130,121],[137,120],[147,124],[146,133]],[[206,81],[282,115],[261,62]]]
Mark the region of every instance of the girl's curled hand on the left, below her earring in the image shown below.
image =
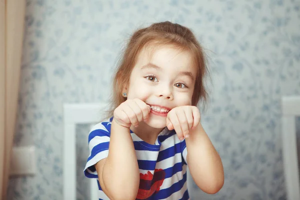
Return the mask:
[[[114,109],[113,120],[127,128],[130,128],[131,124],[136,127],[138,122],[148,118],[150,109],[150,105],[138,98],[127,99]]]

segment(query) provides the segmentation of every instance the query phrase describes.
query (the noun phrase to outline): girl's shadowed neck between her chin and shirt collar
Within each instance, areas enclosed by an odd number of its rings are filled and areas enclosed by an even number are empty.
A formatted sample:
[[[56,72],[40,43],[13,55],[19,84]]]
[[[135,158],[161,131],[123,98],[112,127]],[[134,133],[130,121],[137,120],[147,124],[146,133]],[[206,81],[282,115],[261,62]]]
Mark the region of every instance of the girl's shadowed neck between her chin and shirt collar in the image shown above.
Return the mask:
[[[145,122],[139,122],[137,127],[131,125],[130,129],[143,141],[154,144],[158,134],[163,130],[163,128],[153,128],[146,124]]]

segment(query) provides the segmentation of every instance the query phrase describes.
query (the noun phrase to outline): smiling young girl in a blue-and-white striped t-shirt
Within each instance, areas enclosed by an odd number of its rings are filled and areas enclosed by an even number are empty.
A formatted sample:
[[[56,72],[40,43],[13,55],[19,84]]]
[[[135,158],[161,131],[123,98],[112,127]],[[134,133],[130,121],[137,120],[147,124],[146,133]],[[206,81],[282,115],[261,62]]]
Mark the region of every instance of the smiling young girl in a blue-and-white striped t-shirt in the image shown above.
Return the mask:
[[[89,133],[85,176],[99,199],[189,199],[186,165],[207,193],[223,185],[221,159],[200,123],[204,53],[186,27],[159,22],[130,38],[113,82],[111,118]]]

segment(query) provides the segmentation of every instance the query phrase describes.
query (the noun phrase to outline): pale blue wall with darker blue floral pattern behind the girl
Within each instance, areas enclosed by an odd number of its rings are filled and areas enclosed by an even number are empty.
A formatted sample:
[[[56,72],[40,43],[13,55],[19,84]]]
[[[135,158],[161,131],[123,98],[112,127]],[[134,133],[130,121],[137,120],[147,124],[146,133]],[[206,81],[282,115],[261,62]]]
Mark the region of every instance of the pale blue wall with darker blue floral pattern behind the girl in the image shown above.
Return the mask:
[[[191,27],[210,56],[203,126],[220,153],[224,187],[192,199],[285,199],[280,96],[300,94],[298,0],[27,0],[15,145],[35,145],[37,173],[13,178],[9,199],[62,199],[62,103],[109,94],[129,34],[151,22]],[[78,199],[87,126],[77,127]]]

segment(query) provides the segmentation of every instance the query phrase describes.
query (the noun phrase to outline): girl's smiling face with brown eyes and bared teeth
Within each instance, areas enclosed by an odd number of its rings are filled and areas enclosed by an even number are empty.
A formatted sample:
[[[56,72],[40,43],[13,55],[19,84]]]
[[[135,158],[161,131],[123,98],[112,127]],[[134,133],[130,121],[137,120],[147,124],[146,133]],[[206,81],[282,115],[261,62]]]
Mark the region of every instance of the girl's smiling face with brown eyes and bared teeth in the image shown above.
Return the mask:
[[[139,98],[151,105],[146,122],[149,126],[163,128],[168,110],[191,105],[196,72],[188,51],[162,46],[151,54],[149,49],[144,48],[124,90],[128,99]]]

